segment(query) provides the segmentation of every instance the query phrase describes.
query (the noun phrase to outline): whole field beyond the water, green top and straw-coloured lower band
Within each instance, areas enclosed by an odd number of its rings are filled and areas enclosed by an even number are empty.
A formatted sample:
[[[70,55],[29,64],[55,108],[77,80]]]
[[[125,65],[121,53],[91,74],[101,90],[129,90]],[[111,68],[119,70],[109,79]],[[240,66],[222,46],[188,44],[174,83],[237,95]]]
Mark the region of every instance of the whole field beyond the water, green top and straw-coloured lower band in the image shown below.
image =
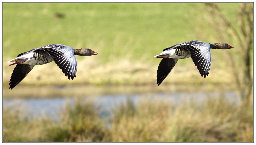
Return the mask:
[[[238,25],[239,4],[219,6]],[[153,84],[161,61],[153,56],[189,40],[218,42],[210,23],[202,3],[3,3],[3,85],[8,86],[14,68],[8,60],[53,43],[88,47],[99,55],[76,57],[79,79],[68,80],[51,62],[34,67],[20,84]],[[225,51],[234,50],[211,50],[206,79],[188,58],[179,60],[170,73],[174,78],[167,77],[163,83],[189,83],[191,78],[197,83],[230,84]],[[92,77],[88,80],[87,76]]]

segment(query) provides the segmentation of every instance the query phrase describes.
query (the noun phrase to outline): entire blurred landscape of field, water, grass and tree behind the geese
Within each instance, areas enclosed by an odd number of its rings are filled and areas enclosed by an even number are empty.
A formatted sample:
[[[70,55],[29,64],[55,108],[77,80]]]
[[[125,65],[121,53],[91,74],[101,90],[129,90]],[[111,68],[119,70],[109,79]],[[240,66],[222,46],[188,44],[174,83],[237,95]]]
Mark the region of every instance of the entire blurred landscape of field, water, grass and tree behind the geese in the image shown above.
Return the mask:
[[[225,42],[209,75],[178,43]],[[36,65],[9,89],[8,60],[48,44],[90,48],[74,80]],[[3,142],[253,142],[253,3],[3,3]]]

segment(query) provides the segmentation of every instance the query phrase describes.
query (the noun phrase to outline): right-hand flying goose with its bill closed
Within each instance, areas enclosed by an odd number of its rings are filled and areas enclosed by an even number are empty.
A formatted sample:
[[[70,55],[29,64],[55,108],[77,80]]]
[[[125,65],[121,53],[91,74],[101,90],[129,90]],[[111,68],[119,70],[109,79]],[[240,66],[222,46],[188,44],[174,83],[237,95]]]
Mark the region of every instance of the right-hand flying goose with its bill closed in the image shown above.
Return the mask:
[[[227,43],[206,43],[197,40],[187,41],[174,46],[165,48],[162,53],[154,56],[163,58],[157,68],[156,84],[158,86],[173,69],[178,59],[191,57],[201,76],[208,76],[211,66],[212,49],[230,49],[234,48]]]

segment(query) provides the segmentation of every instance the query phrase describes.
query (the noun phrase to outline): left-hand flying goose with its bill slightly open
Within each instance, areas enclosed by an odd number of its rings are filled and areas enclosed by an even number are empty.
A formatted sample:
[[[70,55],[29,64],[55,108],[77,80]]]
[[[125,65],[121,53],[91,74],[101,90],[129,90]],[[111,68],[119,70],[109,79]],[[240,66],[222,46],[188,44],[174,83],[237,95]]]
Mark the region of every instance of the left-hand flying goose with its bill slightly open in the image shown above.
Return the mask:
[[[73,49],[61,44],[50,44],[23,52],[12,59],[10,65],[17,64],[10,78],[9,89],[13,89],[27,76],[35,65],[46,64],[52,61],[59,66],[68,79],[74,79],[77,73],[77,60],[74,55],[91,56],[98,53],[89,48]]]

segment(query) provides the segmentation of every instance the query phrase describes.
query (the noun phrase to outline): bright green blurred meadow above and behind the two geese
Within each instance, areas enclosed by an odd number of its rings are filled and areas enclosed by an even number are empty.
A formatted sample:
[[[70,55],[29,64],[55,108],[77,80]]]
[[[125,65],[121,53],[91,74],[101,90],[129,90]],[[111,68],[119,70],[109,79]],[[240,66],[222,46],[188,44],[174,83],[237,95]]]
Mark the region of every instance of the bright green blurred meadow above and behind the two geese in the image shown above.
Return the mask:
[[[235,21],[238,4],[220,6]],[[174,44],[215,43],[212,34],[202,37],[213,31],[200,28],[205,11],[201,3],[3,3],[3,56],[58,43],[98,51],[101,62],[130,57],[157,64],[152,57]]]

